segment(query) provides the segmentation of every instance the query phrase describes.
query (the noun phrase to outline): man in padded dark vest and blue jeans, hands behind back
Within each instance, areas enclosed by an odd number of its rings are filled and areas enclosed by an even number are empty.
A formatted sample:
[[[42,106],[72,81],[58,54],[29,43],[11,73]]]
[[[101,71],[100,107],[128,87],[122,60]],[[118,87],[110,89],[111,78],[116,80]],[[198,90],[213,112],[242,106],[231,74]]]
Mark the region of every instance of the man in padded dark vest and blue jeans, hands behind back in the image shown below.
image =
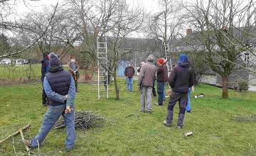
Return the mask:
[[[28,147],[41,146],[54,123],[63,116],[66,128],[65,147],[73,149],[75,145],[74,100],[75,82],[70,72],[64,71],[55,53],[50,53],[50,72],[43,80],[43,88],[49,99],[49,106],[43,118],[41,129],[31,140],[22,140]]]

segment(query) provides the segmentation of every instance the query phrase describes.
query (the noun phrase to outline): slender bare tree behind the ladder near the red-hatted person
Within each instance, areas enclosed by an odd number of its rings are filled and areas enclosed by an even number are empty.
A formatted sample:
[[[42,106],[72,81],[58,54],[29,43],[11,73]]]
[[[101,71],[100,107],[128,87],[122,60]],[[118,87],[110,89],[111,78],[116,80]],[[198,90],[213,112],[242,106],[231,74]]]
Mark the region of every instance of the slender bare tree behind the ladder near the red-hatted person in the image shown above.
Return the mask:
[[[174,0],[159,0],[160,12],[149,18],[149,38],[156,41],[156,46],[164,57],[164,44],[174,40],[182,29],[181,2]],[[160,43],[160,44],[159,44]]]

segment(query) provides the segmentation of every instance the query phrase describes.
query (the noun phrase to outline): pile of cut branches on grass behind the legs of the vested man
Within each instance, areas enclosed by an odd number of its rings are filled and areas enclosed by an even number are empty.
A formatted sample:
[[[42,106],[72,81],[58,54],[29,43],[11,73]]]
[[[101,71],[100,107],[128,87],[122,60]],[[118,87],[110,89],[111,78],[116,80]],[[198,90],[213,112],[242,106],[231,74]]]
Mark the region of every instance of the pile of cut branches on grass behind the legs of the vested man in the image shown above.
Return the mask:
[[[75,128],[86,130],[87,128],[95,128],[104,126],[104,118],[100,115],[93,113],[92,111],[75,111]],[[61,116],[56,121],[53,129],[64,128],[65,121]]]

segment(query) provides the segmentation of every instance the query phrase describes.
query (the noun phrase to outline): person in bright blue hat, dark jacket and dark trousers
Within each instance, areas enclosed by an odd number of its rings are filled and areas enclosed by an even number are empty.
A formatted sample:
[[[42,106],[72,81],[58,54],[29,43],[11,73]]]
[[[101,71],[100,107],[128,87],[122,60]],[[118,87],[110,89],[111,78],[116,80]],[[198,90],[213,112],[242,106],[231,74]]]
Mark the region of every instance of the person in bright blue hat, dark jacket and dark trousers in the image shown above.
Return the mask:
[[[188,99],[188,88],[193,86],[193,79],[193,71],[190,67],[188,55],[181,54],[178,58],[178,65],[174,67],[169,77],[169,85],[172,91],[166,121],[164,121],[165,126],[171,126],[174,115],[174,106],[178,101],[179,113],[177,128],[183,128],[183,120]]]

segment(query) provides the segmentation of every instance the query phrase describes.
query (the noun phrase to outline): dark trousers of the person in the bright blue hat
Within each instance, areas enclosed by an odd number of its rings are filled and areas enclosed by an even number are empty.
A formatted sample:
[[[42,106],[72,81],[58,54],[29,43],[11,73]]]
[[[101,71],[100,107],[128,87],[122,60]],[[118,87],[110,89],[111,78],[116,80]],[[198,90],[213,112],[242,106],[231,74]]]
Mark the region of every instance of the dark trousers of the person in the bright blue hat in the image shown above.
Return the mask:
[[[174,116],[174,106],[178,101],[179,113],[178,113],[177,126],[183,127],[183,120],[185,117],[187,100],[188,100],[188,93],[178,93],[175,91],[171,91],[171,96],[168,104],[168,113],[166,117],[166,121],[168,124],[172,123],[173,116]]]

